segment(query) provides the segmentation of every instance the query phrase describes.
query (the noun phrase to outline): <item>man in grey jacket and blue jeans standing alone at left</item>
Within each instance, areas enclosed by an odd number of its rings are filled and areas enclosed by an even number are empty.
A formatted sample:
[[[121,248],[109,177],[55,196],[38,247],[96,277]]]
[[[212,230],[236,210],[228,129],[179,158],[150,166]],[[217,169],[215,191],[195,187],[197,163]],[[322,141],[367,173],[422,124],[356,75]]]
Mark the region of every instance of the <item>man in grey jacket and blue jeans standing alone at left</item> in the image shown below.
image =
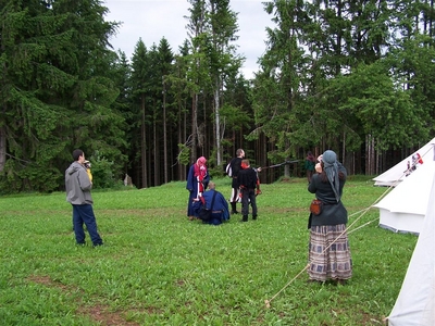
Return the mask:
[[[85,153],[80,149],[73,152],[74,162],[65,171],[66,201],[73,205],[73,226],[77,244],[85,244],[86,225],[94,247],[101,246],[102,240],[97,231],[97,221],[92,209],[92,197],[90,189],[92,183],[84,166]]]

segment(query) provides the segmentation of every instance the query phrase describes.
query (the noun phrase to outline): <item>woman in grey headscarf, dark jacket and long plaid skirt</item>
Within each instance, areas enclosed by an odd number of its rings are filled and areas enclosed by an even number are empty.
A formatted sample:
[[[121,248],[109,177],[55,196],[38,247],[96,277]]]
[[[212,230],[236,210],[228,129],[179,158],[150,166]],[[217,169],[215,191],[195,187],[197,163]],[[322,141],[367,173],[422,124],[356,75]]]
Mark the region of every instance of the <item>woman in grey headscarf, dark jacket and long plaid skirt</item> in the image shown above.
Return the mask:
[[[337,161],[335,152],[327,150],[315,171],[318,174],[313,175],[308,191],[322,201],[322,211],[319,215],[310,214],[308,275],[311,280],[345,283],[352,275],[346,231],[348,216],[341,202],[346,168]]]

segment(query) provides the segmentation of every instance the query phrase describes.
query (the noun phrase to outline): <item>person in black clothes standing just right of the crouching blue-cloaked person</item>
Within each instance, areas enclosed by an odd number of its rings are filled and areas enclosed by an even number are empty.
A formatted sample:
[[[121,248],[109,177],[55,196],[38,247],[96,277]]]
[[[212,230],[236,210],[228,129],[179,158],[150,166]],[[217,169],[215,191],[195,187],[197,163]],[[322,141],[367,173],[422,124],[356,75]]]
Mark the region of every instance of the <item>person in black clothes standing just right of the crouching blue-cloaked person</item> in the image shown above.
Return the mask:
[[[249,204],[252,208],[252,220],[257,220],[256,190],[259,179],[257,171],[249,165],[249,160],[241,161],[241,170],[238,172],[237,183],[241,195],[241,222],[248,222]]]

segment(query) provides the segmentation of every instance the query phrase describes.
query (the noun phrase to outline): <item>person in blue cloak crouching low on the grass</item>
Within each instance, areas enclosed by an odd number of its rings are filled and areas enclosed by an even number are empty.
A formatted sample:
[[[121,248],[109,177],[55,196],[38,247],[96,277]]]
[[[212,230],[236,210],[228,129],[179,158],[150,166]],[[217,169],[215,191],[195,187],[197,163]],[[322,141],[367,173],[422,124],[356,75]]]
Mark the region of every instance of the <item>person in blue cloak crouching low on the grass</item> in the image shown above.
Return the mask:
[[[229,220],[228,203],[226,202],[224,196],[221,192],[219,192],[217,190],[215,190],[215,188],[216,188],[216,185],[213,181],[211,181],[209,184],[209,190],[207,190],[202,193],[206,204],[202,205],[201,202],[196,203],[196,210],[197,210],[198,216],[201,216],[199,214],[199,211],[202,208],[211,210],[211,218],[207,220],[207,221],[202,220],[202,223],[204,223],[204,224],[220,225],[223,222]],[[213,201],[213,197],[214,197],[214,201]]]

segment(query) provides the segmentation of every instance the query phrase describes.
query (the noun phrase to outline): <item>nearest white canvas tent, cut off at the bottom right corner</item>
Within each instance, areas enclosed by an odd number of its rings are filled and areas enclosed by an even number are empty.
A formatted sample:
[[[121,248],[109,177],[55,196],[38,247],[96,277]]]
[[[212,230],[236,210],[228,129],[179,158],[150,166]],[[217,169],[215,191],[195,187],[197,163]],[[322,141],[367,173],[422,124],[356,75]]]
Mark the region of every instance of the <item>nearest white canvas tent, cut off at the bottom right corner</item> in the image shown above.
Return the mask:
[[[389,326],[435,325],[435,177],[431,177],[425,218]]]

